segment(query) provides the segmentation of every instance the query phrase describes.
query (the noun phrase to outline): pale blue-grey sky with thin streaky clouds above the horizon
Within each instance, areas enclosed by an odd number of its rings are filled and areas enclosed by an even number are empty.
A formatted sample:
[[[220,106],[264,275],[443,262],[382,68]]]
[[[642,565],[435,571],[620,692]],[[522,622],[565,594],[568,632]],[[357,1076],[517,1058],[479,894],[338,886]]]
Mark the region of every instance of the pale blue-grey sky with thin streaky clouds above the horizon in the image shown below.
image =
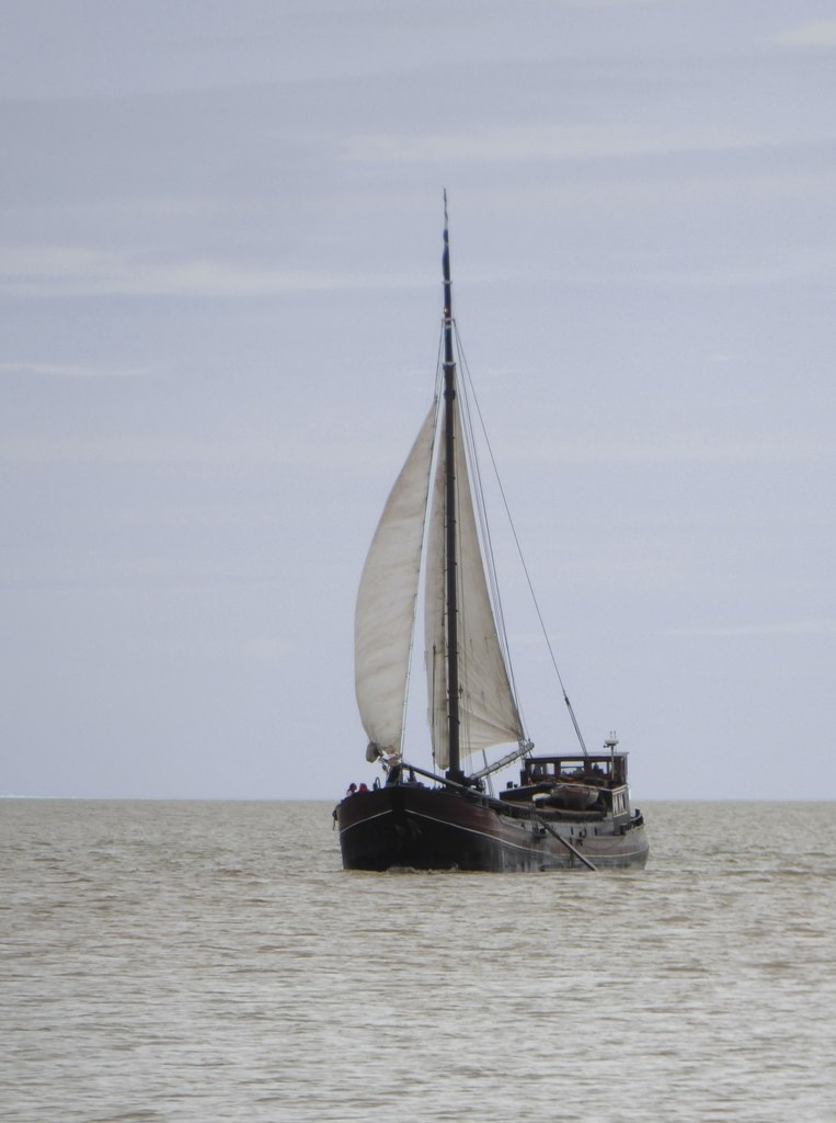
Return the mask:
[[[640,805],[836,798],[830,0],[0,19],[0,793],[375,775],[353,600],[432,395],[445,186],[587,743],[617,731]],[[503,587],[529,732],[569,749]]]

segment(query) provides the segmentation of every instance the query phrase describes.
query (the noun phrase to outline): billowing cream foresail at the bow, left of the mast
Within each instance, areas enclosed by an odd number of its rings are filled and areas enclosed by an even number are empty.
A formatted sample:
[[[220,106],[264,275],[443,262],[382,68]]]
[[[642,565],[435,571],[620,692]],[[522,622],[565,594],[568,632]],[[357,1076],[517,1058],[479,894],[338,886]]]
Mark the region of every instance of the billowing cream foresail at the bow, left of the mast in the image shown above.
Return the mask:
[[[355,611],[355,690],[371,758],[399,752],[421,568],[435,407],[386,501]]]

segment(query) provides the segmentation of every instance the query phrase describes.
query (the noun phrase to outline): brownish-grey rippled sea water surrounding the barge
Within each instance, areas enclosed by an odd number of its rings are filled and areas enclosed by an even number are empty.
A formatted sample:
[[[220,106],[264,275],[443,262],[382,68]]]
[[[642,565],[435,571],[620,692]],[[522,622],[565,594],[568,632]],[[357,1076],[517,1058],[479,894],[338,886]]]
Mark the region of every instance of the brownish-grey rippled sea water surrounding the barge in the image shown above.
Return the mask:
[[[836,805],[644,871],[341,869],[324,803],[0,801],[0,1119],[836,1120]]]

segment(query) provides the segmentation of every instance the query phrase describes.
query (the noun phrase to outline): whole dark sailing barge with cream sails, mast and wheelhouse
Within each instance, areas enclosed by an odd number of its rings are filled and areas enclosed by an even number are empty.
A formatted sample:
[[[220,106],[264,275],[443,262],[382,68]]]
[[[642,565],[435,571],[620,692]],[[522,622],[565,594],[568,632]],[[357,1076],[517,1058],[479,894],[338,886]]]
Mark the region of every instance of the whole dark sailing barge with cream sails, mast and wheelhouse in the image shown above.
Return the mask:
[[[564,690],[581,751],[535,756],[523,729],[489,536],[477,529],[486,523],[466,386],[458,377],[447,207],[442,275],[435,401],[384,508],[357,599],[357,701],[369,738],[367,760],[382,764],[385,783],[351,791],[334,809],[343,866],[641,867],[647,858],[644,821],[631,806],[627,756],[616,751],[615,738],[589,754]],[[422,569],[432,770],[403,757]],[[515,748],[469,770],[477,755],[502,745]],[[486,786],[490,776],[514,761],[521,765],[518,783],[508,782],[495,796]]]

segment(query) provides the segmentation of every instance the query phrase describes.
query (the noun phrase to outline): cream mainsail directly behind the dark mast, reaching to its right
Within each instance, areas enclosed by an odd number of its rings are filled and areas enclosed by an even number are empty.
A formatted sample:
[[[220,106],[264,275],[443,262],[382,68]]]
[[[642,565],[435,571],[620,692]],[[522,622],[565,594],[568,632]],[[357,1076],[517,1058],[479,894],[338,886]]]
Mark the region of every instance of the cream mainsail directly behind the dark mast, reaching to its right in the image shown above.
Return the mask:
[[[454,402],[456,491],[458,504],[458,604],[460,751],[462,759],[492,745],[520,741],[523,729],[503,658],[479,548],[476,515]],[[449,766],[447,622],[444,596],[444,454],[433,485],[426,551],[425,642],[429,718],[437,768]]]

